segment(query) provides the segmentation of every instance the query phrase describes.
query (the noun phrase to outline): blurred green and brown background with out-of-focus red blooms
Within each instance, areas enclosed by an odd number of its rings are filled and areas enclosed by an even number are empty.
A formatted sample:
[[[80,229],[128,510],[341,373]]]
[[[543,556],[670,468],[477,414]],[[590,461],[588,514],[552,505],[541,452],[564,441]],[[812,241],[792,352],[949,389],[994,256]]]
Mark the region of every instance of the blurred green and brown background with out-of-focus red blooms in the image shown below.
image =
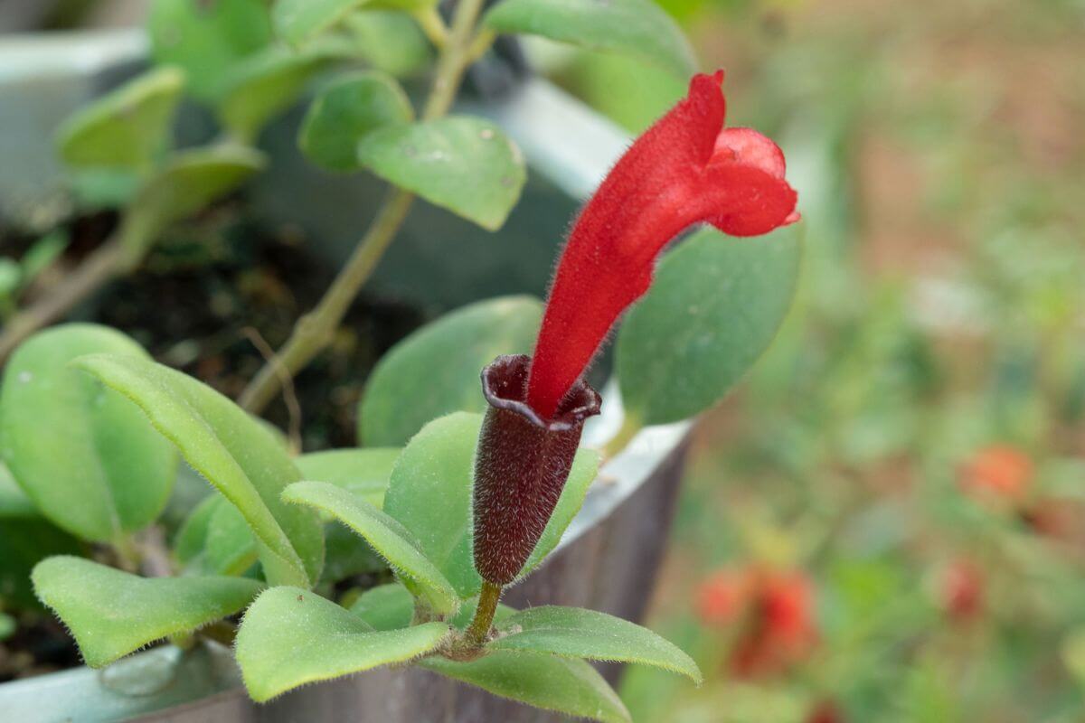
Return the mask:
[[[630,670],[634,716],[1085,721],[1085,1],[662,4],[783,147],[806,260],[648,621],[707,682]],[[529,52],[630,132],[685,92]]]

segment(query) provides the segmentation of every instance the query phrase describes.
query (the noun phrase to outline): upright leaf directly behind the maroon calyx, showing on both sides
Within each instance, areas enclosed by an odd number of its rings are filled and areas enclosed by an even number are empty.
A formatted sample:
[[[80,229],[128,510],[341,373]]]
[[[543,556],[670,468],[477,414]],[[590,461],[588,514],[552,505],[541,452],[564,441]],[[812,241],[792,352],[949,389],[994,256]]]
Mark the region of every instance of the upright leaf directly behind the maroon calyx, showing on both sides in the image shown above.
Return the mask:
[[[474,569],[471,544],[471,488],[474,451],[482,416],[458,412],[425,425],[404,449],[392,470],[384,512],[413,533],[423,554],[452,584],[461,598],[478,594],[482,579]],[[595,477],[597,455],[580,450],[573,462],[557,509],[539,538],[549,552],[561,539]],[[525,565],[525,572],[533,563]]]

